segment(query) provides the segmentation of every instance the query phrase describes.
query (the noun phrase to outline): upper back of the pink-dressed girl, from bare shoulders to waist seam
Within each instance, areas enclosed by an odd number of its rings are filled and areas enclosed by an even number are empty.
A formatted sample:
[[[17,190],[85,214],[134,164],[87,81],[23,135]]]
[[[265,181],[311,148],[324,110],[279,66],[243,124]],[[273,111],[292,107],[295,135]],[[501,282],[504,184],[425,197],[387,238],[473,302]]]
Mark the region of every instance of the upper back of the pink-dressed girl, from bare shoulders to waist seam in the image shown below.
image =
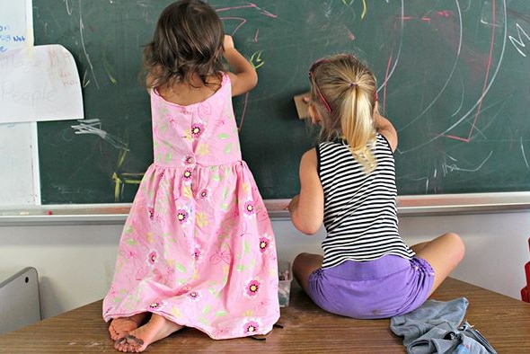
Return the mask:
[[[185,87],[151,91],[155,164],[185,169],[240,161],[228,75],[216,91],[203,86],[188,96]]]

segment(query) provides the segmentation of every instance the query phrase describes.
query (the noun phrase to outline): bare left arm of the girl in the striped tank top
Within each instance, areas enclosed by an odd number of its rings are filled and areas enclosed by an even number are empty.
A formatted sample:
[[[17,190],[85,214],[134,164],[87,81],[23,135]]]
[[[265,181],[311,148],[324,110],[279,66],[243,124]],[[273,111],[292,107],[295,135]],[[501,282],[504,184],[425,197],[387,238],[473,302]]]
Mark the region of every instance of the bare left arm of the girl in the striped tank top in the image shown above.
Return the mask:
[[[313,235],[322,226],[324,193],[317,172],[316,150],[307,151],[300,161],[300,194],[289,203],[293,225],[305,235]]]

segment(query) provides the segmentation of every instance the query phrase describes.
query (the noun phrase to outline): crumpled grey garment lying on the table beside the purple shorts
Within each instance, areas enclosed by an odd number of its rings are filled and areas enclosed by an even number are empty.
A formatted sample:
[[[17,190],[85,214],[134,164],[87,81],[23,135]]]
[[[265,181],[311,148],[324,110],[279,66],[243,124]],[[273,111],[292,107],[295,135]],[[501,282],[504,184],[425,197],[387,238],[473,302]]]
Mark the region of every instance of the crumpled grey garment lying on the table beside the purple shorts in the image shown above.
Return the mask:
[[[446,302],[428,300],[409,314],[392,317],[390,329],[403,337],[408,353],[497,353],[469,323],[459,326],[467,305],[465,297]]]

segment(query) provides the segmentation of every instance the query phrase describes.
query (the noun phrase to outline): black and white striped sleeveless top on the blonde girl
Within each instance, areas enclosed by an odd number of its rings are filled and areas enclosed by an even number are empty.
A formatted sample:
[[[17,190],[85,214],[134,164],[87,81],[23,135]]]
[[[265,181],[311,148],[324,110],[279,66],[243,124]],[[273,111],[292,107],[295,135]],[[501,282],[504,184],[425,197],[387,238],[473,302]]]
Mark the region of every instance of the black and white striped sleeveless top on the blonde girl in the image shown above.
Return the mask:
[[[347,260],[375,260],[385,254],[411,259],[415,253],[398,232],[393,153],[386,139],[377,134],[372,149],[377,166],[370,174],[344,140],[322,142],[316,151],[327,231],[322,268]]]

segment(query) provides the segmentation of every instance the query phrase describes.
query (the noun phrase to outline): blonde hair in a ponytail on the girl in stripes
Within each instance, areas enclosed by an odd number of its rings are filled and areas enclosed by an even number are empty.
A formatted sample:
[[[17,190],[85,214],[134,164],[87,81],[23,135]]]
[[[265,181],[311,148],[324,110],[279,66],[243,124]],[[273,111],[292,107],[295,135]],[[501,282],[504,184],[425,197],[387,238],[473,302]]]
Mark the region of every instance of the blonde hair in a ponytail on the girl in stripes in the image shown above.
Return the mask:
[[[358,163],[372,172],[377,164],[372,153],[375,76],[358,58],[338,54],[315,62],[309,77],[311,101],[322,120],[320,141],[346,139]]]

